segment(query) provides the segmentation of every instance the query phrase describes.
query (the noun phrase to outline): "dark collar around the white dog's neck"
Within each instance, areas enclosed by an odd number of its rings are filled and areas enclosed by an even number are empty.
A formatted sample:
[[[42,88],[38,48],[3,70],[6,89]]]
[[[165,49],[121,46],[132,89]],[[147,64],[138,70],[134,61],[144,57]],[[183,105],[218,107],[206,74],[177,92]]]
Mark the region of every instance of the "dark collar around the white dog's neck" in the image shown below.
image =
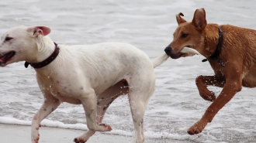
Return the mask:
[[[36,68],[41,68],[43,66],[47,66],[49,63],[54,61],[54,59],[57,57],[57,55],[60,52],[60,48],[57,46],[57,43],[54,43],[54,45],[55,45],[54,53],[52,53],[46,60],[43,60],[40,63],[28,63],[28,62],[25,62],[24,66],[27,68],[30,65],[30,66],[32,66],[35,69]]]

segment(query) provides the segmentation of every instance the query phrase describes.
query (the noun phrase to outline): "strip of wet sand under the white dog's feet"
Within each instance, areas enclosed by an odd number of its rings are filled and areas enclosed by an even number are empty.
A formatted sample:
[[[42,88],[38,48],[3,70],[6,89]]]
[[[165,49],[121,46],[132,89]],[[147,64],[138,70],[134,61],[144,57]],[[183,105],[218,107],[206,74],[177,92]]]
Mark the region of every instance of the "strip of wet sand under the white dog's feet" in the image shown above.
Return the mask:
[[[82,134],[84,131],[64,129],[64,128],[40,128],[40,143],[71,143],[73,138]],[[9,142],[15,138],[16,142],[29,143],[30,141],[30,126],[0,124],[0,142]],[[103,134],[97,132],[90,138],[87,143],[128,143],[133,142],[133,137],[122,136],[116,134]],[[146,138],[146,143],[184,143],[189,141],[175,141],[170,139],[150,139]]]

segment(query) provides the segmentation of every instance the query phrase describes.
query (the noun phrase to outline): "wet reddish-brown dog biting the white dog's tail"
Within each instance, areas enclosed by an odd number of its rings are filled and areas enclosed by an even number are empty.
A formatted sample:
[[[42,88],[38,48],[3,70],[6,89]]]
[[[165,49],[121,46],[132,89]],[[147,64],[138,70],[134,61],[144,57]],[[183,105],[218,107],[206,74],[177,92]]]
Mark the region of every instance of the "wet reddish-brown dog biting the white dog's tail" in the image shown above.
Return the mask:
[[[200,96],[213,101],[202,118],[188,130],[189,134],[199,134],[242,86],[256,87],[256,31],[207,24],[204,9],[195,10],[192,22],[186,22],[181,15],[176,15],[178,28],[165,52],[171,58],[178,59],[191,56],[181,52],[184,47],[195,49],[209,60],[215,73],[214,76],[199,76],[195,80]],[[223,90],[215,97],[207,86],[223,87]]]

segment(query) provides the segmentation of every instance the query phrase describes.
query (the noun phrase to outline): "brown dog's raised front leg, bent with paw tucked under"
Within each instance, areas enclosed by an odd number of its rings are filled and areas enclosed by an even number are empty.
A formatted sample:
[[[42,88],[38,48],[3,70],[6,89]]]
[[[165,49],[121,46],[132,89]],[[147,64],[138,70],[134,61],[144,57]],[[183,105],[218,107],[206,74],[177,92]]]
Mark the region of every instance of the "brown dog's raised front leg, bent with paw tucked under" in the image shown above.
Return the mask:
[[[195,84],[199,90],[200,96],[204,100],[213,101],[216,99],[213,91],[209,91],[207,86],[223,87],[225,79],[216,76],[199,76],[195,79]]]

